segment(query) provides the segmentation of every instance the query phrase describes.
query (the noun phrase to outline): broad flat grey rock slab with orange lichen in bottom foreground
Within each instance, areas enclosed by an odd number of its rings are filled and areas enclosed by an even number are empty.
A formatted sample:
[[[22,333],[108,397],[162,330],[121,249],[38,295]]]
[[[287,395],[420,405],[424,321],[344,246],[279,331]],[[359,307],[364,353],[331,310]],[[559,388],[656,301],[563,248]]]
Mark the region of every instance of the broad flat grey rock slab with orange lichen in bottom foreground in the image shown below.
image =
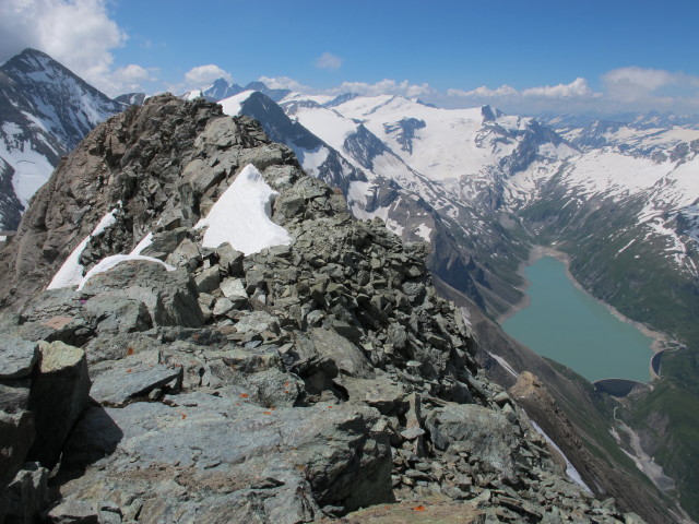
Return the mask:
[[[126,514],[140,498],[142,523],[292,523],[327,504],[389,499],[391,452],[375,409],[238,401],[191,393],[88,408],[61,466],[86,469],[63,484],[63,500],[108,501]]]

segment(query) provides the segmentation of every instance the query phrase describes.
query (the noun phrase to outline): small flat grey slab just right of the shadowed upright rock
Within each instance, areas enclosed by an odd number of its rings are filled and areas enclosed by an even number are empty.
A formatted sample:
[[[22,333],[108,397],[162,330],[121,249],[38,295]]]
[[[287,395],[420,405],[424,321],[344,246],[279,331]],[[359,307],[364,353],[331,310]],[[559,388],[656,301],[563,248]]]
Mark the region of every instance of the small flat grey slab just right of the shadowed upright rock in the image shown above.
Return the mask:
[[[163,364],[119,362],[116,367],[99,373],[92,384],[90,396],[103,406],[123,406],[130,400],[149,392],[181,381],[182,368]]]

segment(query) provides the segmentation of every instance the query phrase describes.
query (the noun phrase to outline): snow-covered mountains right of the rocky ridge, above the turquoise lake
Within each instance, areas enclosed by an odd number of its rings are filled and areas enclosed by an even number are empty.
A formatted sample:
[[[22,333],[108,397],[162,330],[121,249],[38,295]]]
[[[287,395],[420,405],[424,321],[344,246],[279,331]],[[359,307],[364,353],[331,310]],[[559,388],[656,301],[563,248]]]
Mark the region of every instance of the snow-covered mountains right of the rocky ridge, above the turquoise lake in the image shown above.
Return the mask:
[[[221,103],[342,188],[356,216],[429,239],[437,276],[494,315],[521,298],[517,267],[530,248],[553,242],[589,289],[637,320],[678,332],[657,312],[673,308],[650,303],[659,293],[644,273],[667,283],[663,300],[679,294],[699,312],[699,131],[689,124],[653,128],[649,117],[559,133],[489,106],[449,110],[400,96],[292,93],[279,104],[288,120],[259,93]]]

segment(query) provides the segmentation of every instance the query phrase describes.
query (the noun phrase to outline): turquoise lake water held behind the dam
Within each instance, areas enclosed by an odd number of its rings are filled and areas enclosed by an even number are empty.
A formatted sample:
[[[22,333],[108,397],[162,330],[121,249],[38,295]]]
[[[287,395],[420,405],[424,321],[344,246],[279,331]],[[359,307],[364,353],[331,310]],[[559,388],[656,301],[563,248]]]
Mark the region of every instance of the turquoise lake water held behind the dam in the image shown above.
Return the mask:
[[[531,303],[502,323],[509,335],[590,381],[648,382],[652,338],[573,286],[553,257],[537,260],[524,275]]]

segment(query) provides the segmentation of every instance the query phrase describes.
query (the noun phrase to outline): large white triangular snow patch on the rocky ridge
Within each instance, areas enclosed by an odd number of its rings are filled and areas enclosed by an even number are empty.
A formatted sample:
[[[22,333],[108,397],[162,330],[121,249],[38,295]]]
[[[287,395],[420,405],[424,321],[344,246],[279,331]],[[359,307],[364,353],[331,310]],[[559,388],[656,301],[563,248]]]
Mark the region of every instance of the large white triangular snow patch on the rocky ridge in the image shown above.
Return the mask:
[[[260,171],[248,164],[206,217],[194,226],[197,229],[206,227],[203,246],[215,249],[228,242],[248,255],[272,246],[292,243],[288,231],[270,219],[272,202],[277,194]]]

